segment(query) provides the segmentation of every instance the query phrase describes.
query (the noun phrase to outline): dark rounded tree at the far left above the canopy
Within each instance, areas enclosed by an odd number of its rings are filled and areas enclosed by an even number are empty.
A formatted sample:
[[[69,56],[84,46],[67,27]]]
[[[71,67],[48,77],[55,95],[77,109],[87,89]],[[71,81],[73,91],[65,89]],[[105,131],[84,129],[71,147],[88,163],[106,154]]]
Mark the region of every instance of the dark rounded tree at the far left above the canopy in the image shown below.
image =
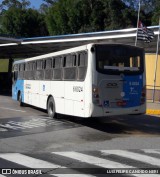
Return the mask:
[[[1,30],[7,35],[32,37],[48,34],[44,16],[34,9],[10,7],[1,20]]]

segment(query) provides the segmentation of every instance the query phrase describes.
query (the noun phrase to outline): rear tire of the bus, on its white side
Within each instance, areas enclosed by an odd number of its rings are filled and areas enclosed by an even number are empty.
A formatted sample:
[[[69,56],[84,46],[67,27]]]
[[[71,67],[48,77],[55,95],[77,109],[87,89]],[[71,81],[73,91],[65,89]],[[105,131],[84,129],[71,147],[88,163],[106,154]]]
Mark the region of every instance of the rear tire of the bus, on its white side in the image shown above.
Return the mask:
[[[53,97],[50,97],[47,103],[48,116],[51,118],[56,118],[55,102]]]

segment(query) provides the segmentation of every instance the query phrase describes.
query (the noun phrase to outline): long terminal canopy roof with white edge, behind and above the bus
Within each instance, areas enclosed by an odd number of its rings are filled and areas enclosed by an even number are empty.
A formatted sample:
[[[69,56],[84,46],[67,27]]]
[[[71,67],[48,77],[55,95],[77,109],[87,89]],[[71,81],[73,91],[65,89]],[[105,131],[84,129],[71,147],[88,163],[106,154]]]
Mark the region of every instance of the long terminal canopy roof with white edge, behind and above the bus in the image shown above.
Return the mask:
[[[150,43],[137,41],[137,46],[144,48],[146,53],[156,53],[159,26],[148,28],[154,31],[154,39]],[[88,43],[105,42],[135,45],[136,35],[137,28],[129,28],[36,38],[16,39],[0,37],[0,59],[28,58]]]

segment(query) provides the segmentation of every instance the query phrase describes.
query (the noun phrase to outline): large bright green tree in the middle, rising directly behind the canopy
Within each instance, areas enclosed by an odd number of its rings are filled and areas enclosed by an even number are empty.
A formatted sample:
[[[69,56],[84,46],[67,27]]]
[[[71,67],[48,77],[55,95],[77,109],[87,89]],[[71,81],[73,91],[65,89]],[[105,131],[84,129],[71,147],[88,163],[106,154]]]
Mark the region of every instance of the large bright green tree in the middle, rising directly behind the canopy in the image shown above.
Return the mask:
[[[57,1],[46,14],[49,33],[57,35],[104,30],[108,18],[105,3],[104,0]]]

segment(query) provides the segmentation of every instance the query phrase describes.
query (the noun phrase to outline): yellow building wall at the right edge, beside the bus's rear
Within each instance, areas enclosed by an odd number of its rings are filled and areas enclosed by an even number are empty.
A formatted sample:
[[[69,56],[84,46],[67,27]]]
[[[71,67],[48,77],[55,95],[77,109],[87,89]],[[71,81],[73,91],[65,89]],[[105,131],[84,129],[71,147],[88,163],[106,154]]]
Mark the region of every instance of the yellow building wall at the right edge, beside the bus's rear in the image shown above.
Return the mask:
[[[156,55],[146,54],[146,86],[147,100],[160,102],[160,55],[158,55],[156,71]],[[154,82],[156,74],[156,81]]]

